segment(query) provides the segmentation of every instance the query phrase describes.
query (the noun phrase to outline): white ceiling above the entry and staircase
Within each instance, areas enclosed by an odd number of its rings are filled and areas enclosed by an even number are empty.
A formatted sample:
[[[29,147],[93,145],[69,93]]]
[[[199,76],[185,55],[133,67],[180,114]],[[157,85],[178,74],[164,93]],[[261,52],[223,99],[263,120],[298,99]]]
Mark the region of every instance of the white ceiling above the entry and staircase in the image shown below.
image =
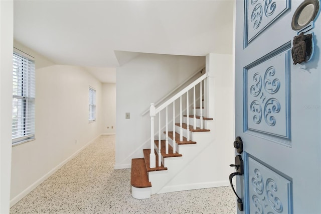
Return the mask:
[[[232,23],[232,0],[14,1],[15,40],[102,79],[134,56],[129,52],[230,54]]]

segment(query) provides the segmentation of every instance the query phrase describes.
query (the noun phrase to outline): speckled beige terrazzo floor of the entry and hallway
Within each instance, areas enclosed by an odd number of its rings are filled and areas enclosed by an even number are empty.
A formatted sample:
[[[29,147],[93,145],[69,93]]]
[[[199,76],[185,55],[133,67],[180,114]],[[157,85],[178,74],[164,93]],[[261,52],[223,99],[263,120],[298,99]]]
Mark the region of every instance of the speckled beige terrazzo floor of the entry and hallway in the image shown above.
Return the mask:
[[[10,213],[235,213],[231,187],[130,193],[130,169],[114,170],[115,136],[101,136],[20,200]]]

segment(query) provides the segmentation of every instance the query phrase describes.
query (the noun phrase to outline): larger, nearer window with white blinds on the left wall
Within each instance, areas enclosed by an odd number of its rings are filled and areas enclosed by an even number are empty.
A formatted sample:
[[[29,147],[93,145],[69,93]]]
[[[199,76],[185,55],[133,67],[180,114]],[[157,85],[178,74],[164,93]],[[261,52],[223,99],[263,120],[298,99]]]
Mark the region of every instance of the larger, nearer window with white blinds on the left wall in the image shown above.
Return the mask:
[[[13,56],[12,142],[35,138],[35,61],[15,49]]]

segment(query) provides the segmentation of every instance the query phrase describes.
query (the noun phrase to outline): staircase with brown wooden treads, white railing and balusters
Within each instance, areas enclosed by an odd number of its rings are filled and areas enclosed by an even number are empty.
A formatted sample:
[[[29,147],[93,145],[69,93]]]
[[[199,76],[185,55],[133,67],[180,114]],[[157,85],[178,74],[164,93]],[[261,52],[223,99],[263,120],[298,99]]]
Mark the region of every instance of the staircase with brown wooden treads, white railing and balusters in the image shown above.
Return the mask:
[[[193,171],[199,164],[204,164],[196,157],[213,138],[213,119],[203,117],[206,78],[204,74],[158,108],[151,104],[150,149],[143,149],[144,157],[131,161],[130,184],[134,198],[195,189],[197,187],[190,183],[202,182],[202,173],[193,174]],[[196,93],[196,90],[199,91]],[[155,120],[158,123],[156,132]]]

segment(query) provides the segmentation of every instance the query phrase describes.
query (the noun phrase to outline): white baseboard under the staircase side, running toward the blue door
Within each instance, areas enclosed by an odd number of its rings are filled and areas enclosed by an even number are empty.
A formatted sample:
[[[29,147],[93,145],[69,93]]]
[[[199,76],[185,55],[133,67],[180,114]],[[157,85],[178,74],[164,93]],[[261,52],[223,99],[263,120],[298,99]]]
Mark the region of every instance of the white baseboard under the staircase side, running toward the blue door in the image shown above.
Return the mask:
[[[177,192],[177,191],[185,191],[192,189],[206,189],[206,188],[214,188],[214,187],[222,187],[229,186],[229,180],[216,181],[216,182],[205,182],[205,183],[189,183],[175,186],[165,186],[158,193],[166,193],[166,192]]]

